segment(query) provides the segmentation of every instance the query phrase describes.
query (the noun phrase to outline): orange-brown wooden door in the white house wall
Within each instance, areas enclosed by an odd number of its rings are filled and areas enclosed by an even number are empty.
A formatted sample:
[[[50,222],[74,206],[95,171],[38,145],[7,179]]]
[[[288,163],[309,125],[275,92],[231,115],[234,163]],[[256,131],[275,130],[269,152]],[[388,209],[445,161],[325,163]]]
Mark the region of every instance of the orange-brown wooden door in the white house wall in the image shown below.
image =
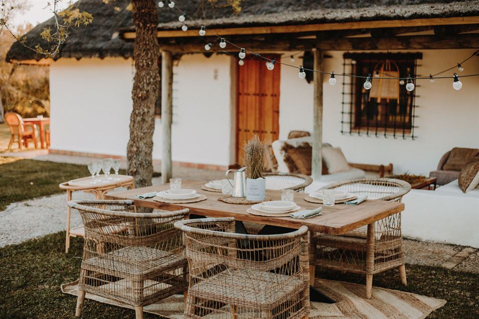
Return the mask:
[[[268,58],[279,56],[268,55]],[[280,64],[266,68],[266,60],[245,59],[238,66],[237,163],[244,164],[243,146],[255,134],[270,145],[279,137]]]

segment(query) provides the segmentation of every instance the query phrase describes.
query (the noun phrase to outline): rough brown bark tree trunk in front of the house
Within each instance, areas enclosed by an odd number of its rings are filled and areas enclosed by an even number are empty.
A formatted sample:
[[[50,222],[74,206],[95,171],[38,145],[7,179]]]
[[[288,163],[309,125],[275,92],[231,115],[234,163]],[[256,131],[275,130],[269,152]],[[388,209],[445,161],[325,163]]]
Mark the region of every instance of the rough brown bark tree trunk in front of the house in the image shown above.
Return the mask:
[[[158,13],[153,0],[131,0],[131,3],[136,27],[133,49],[136,73],[132,90],[127,172],[134,177],[135,187],[144,187],[151,185],[153,176],[154,111],[160,84],[160,48],[156,37]]]

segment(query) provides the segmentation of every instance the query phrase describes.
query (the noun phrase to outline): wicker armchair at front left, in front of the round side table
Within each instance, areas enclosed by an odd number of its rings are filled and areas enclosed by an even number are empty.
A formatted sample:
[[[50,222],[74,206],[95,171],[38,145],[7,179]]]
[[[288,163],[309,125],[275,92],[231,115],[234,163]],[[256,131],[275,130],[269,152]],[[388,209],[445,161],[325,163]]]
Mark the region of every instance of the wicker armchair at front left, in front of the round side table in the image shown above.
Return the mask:
[[[132,200],[81,200],[68,205],[79,211],[85,227],[76,316],[85,293],[135,307],[185,291],[188,263],[181,231],[173,225],[188,209],[135,213]]]

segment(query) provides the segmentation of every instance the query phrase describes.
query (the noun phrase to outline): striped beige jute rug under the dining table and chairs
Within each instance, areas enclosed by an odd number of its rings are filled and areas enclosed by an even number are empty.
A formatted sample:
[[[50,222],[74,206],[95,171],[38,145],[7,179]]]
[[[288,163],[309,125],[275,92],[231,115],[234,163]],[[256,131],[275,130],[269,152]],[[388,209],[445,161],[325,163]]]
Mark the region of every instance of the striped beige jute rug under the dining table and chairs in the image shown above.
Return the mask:
[[[446,304],[446,301],[441,299],[377,287],[373,288],[372,299],[367,300],[365,286],[339,281],[316,279],[314,286],[336,303],[311,302],[310,319],[423,319]],[[78,281],[62,285],[61,291],[77,296]],[[88,293],[85,298],[134,309]],[[184,309],[183,295],[174,295],[159,303],[146,306],[144,311],[164,318],[183,319]],[[71,311],[74,312],[75,309]],[[214,314],[205,316],[205,319],[214,318]]]

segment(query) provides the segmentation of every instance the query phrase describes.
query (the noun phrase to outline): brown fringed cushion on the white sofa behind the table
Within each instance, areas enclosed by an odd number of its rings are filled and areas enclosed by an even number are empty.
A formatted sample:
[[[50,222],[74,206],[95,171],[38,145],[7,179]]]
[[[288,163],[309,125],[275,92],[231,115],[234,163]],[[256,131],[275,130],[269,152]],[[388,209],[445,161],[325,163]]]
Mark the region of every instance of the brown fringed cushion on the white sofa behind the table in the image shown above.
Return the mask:
[[[281,149],[284,152],[284,162],[290,173],[311,175],[312,147],[309,143],[302,143],[298,147],[284,143]],[[328,173],[326,164],[323,161],[322,174]]]

